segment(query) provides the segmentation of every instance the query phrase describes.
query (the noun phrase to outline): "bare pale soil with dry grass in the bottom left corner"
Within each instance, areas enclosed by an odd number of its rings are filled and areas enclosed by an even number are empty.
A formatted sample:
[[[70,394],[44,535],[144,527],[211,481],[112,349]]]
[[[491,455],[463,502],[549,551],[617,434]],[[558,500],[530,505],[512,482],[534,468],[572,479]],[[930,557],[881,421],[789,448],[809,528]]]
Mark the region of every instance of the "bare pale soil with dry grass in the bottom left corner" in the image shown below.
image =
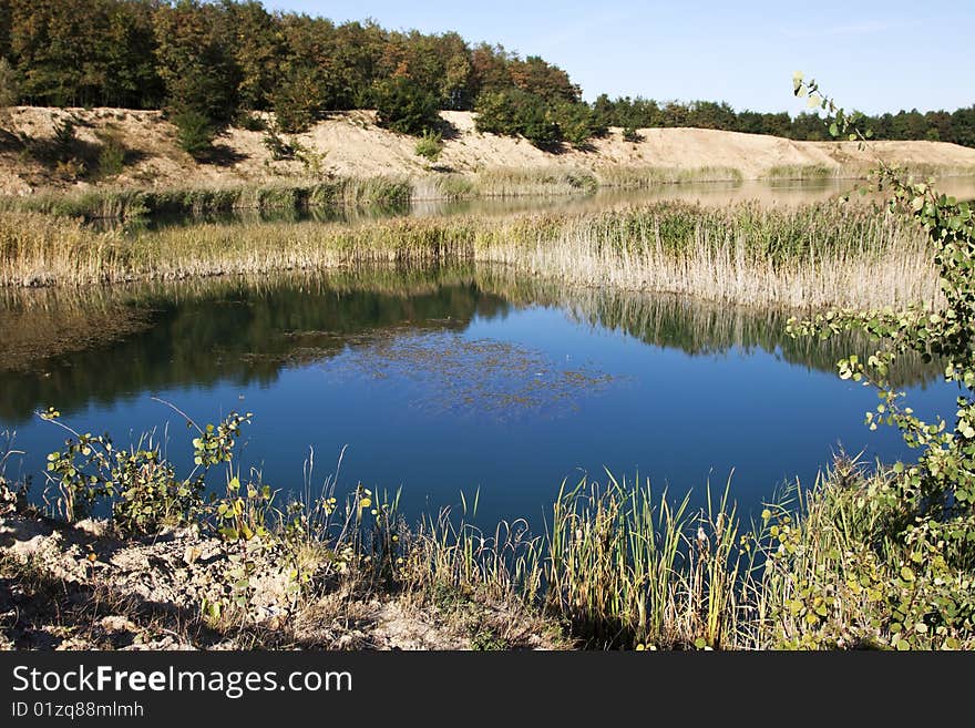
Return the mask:
[[[517,605],[470,595],[438,602],[355,575],[312,580],[297,594],[291,568],[273,540],[228,548],[196,527],[122,539],[105,521],[44,517],[0,476],[0,649],[568,646],[556,626]],[[215,614],[208,604],[225,606]]]

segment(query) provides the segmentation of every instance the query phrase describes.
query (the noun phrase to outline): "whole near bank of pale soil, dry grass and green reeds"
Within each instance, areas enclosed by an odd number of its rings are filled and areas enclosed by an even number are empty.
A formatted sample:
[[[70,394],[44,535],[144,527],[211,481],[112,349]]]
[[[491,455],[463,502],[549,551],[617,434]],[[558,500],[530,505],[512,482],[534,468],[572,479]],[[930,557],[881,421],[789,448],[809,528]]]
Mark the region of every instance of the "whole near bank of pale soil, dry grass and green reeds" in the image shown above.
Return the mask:
[[[256,530],[246,540],[219,536],[206,516],[162,540],[114,522],[66,524],[0,480],[0,524],[16,534],[0,576],[30,602],[20,624],[0,624],[0,640],[397,648],[384,623],[396,612],[440,633],[407,648],[890,649],[904,621],[896,605],[925,604],[940,587],[897,576],[907,550],[879,527],[891,514],[871,495],[889,479],[841,458],[749,526],[727,491],[691,512],[610,476],[564,486],[537,535],[523,522],[483,532],[445,511],[409,526],[394,501],[360,485],[342,502],[331,481],[277,511],[258,483],[242,501]],[[81,596],[58,608],[65,593]],[[154,642],[162,634],[175,640]],[[917,637],[922,648],[975,648],[965,628]]]

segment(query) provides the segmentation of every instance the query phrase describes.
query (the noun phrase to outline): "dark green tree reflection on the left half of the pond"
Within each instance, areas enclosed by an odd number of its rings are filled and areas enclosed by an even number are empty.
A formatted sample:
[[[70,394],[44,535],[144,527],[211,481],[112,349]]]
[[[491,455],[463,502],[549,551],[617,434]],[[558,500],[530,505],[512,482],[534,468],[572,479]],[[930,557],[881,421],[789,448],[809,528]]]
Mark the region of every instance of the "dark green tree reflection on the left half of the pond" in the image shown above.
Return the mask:
[[[494,316],[506,308],[480,291],[469,273],[391,269],[369,276],[20,291],[6,306],[18,311],[17,336],[34,338],[20,349],[35,355],[17,368],[0,365],[6,421],[22,421],[39,407],[70,411],[138,391],[267,383],[291,363],[341,351],[349,337],[401,326],[463,328],[475,314]],[[106,312],[126,310],[147,325],[119,338],[86,339],[91,346],[81,351],[58,349],[47,327],[31,322],[32,316],[38,321],[98,316],[110,327],[114,319]],[[0,351],[7,336],[0,331]],[[41,356],[45,351],[53,353]]]

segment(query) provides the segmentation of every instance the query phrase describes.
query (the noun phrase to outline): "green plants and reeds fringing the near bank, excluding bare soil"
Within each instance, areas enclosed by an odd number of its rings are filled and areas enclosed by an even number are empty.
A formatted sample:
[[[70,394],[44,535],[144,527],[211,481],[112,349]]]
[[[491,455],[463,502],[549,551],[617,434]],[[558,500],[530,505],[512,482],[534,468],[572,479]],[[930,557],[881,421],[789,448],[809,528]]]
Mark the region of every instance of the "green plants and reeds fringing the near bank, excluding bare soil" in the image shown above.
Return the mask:
[[[770,504],[750,529],[727,490],[691,512],[687,498],[657,499],[648,485],[608,475],[605,486],[564,486],[542,536],[524,522],[483,532],[465,520],[476,499],[464,501],[460,521],[442,512],[411,530],[397,498],[361,484],[345,506],[328,481],[320,496],[276,507],[277,492],[235,465],[249,418],[203,428],[187,420],[197,431],[187,478],[145,440],[120,451],[107,435],[72,431],[49,455],[60,511],[73,520],[101,502],[122,535],[196,524],[228,548],[280,544],[309,595],[351,577],[434,604],[444,594],[516,601],[589,647],[975,648],[971,571],[912,560],[913,544],[889,527],[901,512],[886,496],[896,471],[868,474],[841,458],[809,493],[797,491],[798,502]],[[226,466],[225,493],[204,499],[204,473],[217,465]],[[320,566],[302,573],[312,552],[324,554]],[[234,594],[246,608],[246,589]]]

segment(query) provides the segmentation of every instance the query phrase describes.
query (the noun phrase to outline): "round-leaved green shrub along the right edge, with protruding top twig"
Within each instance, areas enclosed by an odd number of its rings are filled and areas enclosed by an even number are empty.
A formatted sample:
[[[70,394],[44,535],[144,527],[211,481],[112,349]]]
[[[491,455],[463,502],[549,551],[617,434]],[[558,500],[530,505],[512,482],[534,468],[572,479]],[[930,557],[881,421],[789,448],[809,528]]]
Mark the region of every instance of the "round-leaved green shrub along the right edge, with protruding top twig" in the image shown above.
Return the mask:
[[[871,135],[814,81],[804,82],[797,74],[794,91],[833,115],[833,136],[863,141]],[[842,359],[840,376],[874,387],[880,403],[868,412],[866,423],[871,429],[896,427],[920,455],[916,464],[895,463],[890,481],[871,494],[871,506],[883,512],[878,531],[886,550],[900,555],[899,562],[878,571],[875,554],[868,552],[853,570],[853,580],[862,584],[875,578],[884,589],[893,584],[903,592],[892,604],[892,646],[954,646],[957,629],[972,630],[975,625],[975,216],[967,203],[883,163],[876,182],[892,192],[891,209],[910,215],[925,232],[946,307],[831,311],[793,320],[790,329],[821,338],[859,330],[878,342],[866,361],[856,356]],[[891,384],[889,372],[910,351],[945,363],[945,380],[959,391],[953,425],[941,417],[925,422],[902,404],[904,394]]]

